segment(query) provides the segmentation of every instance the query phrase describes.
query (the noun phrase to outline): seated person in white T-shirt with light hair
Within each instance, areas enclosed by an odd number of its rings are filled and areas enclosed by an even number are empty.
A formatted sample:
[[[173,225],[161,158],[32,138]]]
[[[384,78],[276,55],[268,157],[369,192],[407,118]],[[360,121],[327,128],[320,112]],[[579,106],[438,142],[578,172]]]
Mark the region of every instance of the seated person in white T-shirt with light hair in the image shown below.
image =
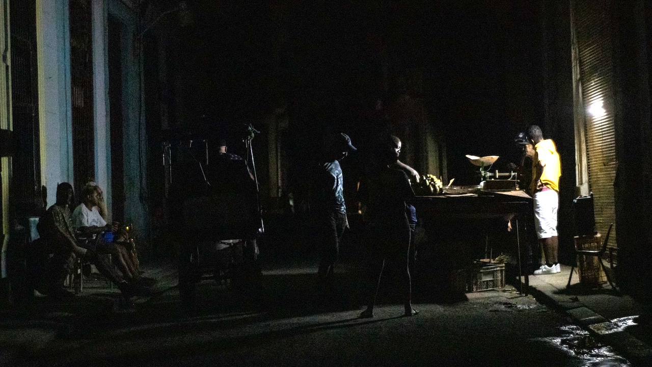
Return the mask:
[[[98,204],[101,197],[100,187],[87,183],[82,189],[82,204],[79,204],[72,213],[73,225],[80,237],[85,236],[95,243],[98,253],[108,253],[115,257],[115,263],[123,274],[123,279],[133,283],[138,279],[138,270],[128,251],[124,246],[104,241],[104,232],[117,231],[117,223],[108,224],[100,215]],[[100,238],[98,234],[101,235]]]

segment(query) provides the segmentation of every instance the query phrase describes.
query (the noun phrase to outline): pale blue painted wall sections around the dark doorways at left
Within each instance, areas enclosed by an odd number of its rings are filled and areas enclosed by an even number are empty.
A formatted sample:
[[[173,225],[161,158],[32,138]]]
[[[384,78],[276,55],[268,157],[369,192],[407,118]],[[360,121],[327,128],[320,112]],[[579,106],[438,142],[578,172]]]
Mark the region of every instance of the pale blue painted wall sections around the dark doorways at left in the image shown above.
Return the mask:
[[[104,189],[110,210],[111,142],[108,94],[108,17],[123,25],[123,141],[125,218],[136,228],[137,240],[149,238],[147,210],[147,138],[141,103],[141,63],[136,37],[136,16],[123,1],[92,1],[93,88],[95,108],[95,180]],[[60,182],[72,182],[72,119],[70,112],[70,43],[67,1],[37,0],[40,123],[44,131],[42,172],[48,188],[48,206],[56,199]],[[134,51],[136,50],[136,51]]]

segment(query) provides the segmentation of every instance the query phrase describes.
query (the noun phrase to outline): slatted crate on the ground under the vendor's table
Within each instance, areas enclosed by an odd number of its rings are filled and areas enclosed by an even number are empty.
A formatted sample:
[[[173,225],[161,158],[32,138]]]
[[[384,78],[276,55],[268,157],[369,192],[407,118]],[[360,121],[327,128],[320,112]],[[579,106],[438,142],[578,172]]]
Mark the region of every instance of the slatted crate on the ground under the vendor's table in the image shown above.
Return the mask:
[[[474,263],[454,272],[453,286],[464,293],[505,287],[505,264]]]

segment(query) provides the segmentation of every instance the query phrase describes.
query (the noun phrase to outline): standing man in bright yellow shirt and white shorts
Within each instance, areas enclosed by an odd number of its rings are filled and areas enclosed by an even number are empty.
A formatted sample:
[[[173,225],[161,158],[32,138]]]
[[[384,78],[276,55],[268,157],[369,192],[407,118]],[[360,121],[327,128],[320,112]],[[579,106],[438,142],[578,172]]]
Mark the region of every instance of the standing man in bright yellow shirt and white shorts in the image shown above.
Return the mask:
[[[527,128],[527,140],[521,140],[519,144],[523,146],[524,154],[532,159],[532,180],[528,191],[533,193],[535,229],[546,260],[534,274],[556,274],[561,271],[557,261],[557,210],[561,176],[559,153],[551,139],[544,140],[537,125]]]

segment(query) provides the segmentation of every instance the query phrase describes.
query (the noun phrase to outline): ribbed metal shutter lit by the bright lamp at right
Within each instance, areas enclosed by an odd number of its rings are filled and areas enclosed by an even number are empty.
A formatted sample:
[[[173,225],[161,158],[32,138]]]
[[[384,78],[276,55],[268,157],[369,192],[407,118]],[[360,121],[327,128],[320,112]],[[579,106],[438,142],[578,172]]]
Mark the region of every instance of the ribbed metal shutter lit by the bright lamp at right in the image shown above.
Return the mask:
[[[614,180],[617,164],[614,128],[614,31],[610,0],[574,0],[572,27],[585,113],[589,190],[595,201],[598,232],[615,221]],[[610,246],[615,246],[615,227]]]

